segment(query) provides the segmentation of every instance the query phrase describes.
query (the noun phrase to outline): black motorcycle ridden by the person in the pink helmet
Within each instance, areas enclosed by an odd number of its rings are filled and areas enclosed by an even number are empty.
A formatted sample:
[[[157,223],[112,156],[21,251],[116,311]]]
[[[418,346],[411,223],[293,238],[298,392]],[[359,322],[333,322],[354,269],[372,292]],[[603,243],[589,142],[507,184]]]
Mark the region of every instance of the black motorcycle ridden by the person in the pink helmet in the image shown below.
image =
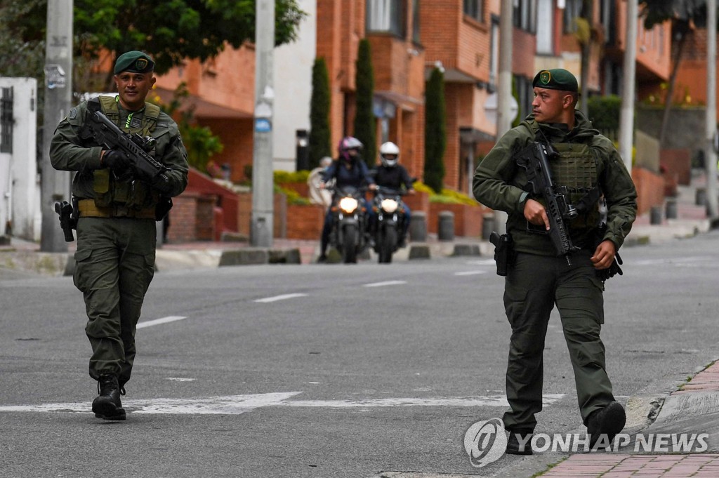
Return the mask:
[[[365,188],[334,188],[331,211],[334,215],[329,242],[342,255],[342,262],[353,264],[367,247]]]

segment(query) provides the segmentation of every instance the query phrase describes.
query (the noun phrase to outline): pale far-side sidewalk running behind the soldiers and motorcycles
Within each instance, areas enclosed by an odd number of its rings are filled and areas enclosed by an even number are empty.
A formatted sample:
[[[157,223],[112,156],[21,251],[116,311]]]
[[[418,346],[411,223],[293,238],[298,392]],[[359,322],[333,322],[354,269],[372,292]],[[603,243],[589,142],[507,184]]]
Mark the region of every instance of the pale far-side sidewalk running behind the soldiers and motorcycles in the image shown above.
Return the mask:
[[[704,233],[710,229],[704,206],[695,204],[697,188],[705,185],[701,175],[692,177],[691,185],[679,185],[676,218],[666,219],[661,211],[661,224],[651,224],[651,213],[639,216],[625,247],[667,242]],[[655,218],[656,219],[656,216]],[[68,252],[40,252],[40,244],[12,238],[9,245],[0,245],[0,278],[9,275],[61,276],[72,273],[75,243],[68,243]],[[410,242],[399,249],[394,262],[414,259],[439,259],[458,255],[493,257],[494,247],[479,237],[455,237],[439,241],[429,235],[426,242]],[[206,267],[257,264],[303,264],[316,262],[319,240],[273,239],[269,248],[251,247],[247,242],[188,242],[162,244],[157,249],[157,272]],[[374,253],[365,254],[360,261],[377,262]],[[719,475],[718,475],[719,476]]]

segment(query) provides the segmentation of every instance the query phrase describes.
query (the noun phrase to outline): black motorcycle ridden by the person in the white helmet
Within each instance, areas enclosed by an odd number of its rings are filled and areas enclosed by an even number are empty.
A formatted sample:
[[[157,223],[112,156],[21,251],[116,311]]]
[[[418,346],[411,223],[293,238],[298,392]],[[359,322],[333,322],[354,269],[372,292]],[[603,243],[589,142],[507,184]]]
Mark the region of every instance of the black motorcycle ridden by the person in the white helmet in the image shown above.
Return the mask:
[[[405,204],[402,201],[405,194],[404,190],[384,186],[377,186],[375,190],[375,198],[372,200],[375,224],[371,233],[375,239],[375,252],[380,264],[392,262],[392,254],[405,239],[402,236],[406,221]]]

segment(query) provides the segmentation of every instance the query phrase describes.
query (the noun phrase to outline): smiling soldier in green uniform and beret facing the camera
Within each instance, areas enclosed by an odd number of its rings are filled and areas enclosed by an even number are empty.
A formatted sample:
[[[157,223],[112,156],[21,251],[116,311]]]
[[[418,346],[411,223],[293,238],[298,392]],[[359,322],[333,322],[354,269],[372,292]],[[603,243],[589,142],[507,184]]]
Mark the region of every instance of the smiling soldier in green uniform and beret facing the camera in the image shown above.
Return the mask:
[[[70,109],[50,144],[52,166],[75,171],[78,242],[73,281],[85,300],[85,331],[93,351],[89,372],[98,381],[92,410],[105,420],[126,418],[120,395],[132,373],[137,321],[155,272],[155,221],[167,212],[168,198],[182,193],[188,181],[187,151],[177,124],[145,102],[156,81],[154,66],[143,52],[120,55],[114,68],[119,95],[100,96]],[[87,133],[88,111],[102,111],[124,132],[152,137],[150,155],[170,168],[162,180],[153,184],[139,179],[122,152],[96,144]]]

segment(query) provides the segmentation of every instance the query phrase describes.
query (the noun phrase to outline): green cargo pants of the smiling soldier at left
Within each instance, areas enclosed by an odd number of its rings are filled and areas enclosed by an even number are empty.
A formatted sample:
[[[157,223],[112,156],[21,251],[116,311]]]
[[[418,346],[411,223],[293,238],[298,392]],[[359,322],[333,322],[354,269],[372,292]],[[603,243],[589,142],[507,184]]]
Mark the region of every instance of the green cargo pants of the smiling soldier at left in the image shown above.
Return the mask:
[[[85,332],[92,346],[89,373],[132,374],[134,334],[145,293],[155,275],[153,219],[80,217],[73,282],[85,300]]]

